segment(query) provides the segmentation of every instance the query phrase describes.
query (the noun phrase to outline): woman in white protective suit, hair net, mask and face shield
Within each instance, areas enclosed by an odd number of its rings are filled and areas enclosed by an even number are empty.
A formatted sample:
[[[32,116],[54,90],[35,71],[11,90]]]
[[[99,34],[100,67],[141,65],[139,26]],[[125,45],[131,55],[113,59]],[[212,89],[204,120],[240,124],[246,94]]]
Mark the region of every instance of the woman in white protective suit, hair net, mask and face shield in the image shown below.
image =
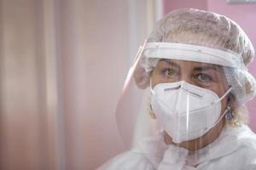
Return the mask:
[[[223,15],[192,8],[167,14],[139,49],[119,102],[119,129],[133,148],[99,170],[256,169],[244,106],[255,94],[246,68],[253,55],[247,35]]]

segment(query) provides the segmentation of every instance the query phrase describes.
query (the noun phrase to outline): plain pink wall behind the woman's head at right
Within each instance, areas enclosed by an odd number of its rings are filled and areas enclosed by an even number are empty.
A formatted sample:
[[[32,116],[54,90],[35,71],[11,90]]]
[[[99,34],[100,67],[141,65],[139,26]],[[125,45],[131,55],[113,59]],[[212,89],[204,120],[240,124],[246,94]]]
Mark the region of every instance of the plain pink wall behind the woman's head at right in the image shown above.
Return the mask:
[[[250,37],[253,42],[254,48],[256,48],[256,3],[237,3],[228,4],[225,0],[181,0],[170,1],[163,0],[164,14],[167,14],[176,8],[200,8],[207,9],[218,14],[224,14],[230,19],[235,20],[241,28],[246,31],[247,36]],[[249,66],[249,71],[256,77],[256,59]],[[250,111],[249,126],[256,132],[256,99],[248,102],[248,108]]]

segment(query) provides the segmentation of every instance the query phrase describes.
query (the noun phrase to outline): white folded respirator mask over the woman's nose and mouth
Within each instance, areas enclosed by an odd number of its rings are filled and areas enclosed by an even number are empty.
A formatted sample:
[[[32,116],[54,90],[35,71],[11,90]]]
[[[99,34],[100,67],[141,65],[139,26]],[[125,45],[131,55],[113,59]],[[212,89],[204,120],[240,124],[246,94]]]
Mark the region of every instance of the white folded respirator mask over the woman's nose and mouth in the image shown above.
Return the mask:
[[[224,116],[221,100],[211,90],[188,82],[159,83],[151,89],[151,107],[160,125],[174,143],[197,139],[206,134]]]

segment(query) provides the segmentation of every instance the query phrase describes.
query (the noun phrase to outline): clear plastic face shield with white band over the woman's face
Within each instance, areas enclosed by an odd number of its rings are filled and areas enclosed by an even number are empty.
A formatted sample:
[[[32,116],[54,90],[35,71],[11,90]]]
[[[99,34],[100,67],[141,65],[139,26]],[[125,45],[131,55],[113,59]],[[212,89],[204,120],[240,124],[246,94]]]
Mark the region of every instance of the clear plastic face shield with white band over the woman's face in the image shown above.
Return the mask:
[[[116,110],[125,145],[159,158],[171,146],[205,155],[247,101],[245,68],[241,54],[229,50],[145,42]]]

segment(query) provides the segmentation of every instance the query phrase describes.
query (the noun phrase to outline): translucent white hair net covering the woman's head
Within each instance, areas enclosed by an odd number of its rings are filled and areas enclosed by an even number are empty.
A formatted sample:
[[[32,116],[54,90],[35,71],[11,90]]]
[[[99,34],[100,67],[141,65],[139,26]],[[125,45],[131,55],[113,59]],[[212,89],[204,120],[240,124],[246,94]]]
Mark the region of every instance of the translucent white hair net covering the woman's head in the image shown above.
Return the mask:
[[[166,14],[151,32],[148,42],[177,42],[234,52],[241,55],[245,66],[253,60],[254,55],[251,41],[236,22],[224,15],[194,8],[177,9]],[[145,58],[142,59],[140,67],[148,72],[157,62],[158,59]],[[225,72],[227,81],[232,84],[232,94],[239,103],[253,99],[256,83],[246,68],[239,72],[229,68]],[[138,83],[138,86],[146,88],[150,74],[143,73],[141,76],[143,82]],[[245,83],[241,85],[239,82]],[[242,96],[242,92],[246,94],[243,93]]]

